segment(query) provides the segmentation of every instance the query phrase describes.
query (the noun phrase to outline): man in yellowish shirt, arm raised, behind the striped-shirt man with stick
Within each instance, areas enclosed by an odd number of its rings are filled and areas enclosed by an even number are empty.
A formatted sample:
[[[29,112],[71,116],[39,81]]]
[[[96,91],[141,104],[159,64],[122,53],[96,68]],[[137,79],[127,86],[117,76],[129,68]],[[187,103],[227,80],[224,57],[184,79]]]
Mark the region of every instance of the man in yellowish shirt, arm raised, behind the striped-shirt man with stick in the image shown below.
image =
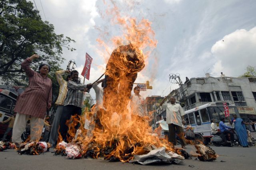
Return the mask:
[[[66,81],[62,77],[62,74],[64,73],[68,73],[66,77]],[[63,111],[64,100],[68,92],[67,81],[71,80],[70,70],[59,70],[55,72],[55,75],[60,85],[60,90],[59,90],[58,99],[55,102],[55,104],[58,105],[58,107],[57,107],[56,113],[54,114],[52,129],[51,129],[50,138],[49,138],[49,143],[51,144],[52,147],[56,145],[56,142],[58,139],[58,128],[60,125],[60,118]]]

